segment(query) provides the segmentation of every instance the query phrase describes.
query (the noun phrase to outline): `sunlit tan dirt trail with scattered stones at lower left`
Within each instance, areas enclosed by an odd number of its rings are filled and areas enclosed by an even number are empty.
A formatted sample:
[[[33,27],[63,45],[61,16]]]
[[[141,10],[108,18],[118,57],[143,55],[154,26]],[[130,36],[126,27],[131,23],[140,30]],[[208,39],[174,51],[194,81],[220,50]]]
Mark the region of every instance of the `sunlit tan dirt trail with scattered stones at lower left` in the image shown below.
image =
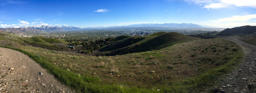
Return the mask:
[[[0,93],[74,92],[34,60],[16,50],[0,48],[0,69]]]

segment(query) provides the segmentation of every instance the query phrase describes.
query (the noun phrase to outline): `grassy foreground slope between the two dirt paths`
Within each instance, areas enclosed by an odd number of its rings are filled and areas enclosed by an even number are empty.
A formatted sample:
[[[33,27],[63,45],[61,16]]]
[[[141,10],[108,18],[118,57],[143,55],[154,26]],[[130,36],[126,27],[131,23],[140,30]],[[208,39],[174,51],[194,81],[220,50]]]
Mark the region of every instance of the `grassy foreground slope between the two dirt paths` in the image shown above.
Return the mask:
[[[233,47],[238,51],[232,51]],[[29,46],[15,50],[36,60],[76,92],[97,93],[200,92],[243,58],[238,45],[219,38],[118,56],[80,56]]]

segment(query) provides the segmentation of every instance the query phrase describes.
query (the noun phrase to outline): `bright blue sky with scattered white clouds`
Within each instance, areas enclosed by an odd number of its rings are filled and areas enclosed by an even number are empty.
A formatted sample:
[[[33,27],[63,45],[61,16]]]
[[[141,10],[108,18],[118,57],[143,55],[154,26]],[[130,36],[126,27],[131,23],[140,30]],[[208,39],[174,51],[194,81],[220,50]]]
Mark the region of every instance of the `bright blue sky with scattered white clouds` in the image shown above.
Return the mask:
[[[0,0],[0,27],[256,26],[256,0]]]

